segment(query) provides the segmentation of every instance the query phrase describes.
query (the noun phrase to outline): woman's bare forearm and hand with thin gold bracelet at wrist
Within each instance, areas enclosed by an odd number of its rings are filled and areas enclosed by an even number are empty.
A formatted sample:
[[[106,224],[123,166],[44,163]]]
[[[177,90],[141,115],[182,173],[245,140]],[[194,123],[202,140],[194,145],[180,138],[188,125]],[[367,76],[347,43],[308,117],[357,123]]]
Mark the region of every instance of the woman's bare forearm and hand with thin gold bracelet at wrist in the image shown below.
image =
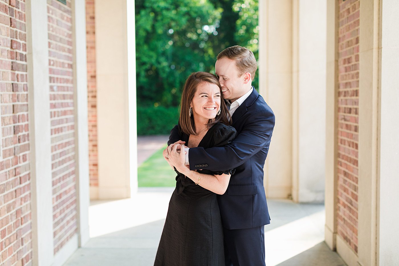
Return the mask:
[[[178,153],[177,148],[180,145],[170,145],[168,147],[169,163],[176,167],[176,170],[190,178],[196,185],[203,187],[216,194],[222,195],[226,192],[229,185],[230,175],[207,175],[190,170],[186,165],[185,153]],[[184,150],[184,145],[181,145],[181,150]]]

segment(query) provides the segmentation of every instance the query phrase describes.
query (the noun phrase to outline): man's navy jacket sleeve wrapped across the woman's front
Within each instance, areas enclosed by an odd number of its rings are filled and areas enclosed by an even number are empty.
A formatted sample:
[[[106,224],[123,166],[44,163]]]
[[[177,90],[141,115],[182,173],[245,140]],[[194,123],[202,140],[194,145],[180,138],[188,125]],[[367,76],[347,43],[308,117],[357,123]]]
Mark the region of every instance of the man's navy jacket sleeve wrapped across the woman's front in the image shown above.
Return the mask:
[[[188,155],[190,169],[223,171],[242,165],[255,153],[264,147],[269,147],[274,125],[273,112],[268,110],[257,112],[251,116],[251,121],[229,145],[208,149],[191,148]]]

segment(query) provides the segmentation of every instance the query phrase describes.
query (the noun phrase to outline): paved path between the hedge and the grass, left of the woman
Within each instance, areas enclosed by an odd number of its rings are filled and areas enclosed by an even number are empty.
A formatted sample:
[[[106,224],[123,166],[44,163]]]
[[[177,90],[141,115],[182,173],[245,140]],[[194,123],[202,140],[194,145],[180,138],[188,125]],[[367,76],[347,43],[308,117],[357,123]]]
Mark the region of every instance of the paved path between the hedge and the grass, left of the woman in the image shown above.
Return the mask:
[[[168,143],[168,135],[138,136],[137,137],[137,163],[141,165],[158,149]]]

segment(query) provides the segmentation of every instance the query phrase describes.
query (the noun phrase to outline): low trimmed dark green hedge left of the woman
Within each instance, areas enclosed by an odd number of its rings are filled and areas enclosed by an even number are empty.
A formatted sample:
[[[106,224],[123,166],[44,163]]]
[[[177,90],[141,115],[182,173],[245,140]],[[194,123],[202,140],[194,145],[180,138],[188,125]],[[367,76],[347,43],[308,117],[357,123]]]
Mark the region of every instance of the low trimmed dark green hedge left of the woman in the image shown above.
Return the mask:
[[[178,117],[179,107],[137,107],[137,134],[169,135]]]

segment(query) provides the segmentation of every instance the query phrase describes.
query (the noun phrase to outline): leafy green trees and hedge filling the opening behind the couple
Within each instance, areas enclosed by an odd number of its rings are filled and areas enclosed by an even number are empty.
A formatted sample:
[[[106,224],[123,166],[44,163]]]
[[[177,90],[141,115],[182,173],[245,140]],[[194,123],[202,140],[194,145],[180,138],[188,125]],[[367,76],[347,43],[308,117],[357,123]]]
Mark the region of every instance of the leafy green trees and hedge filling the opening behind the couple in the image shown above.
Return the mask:
[[[138,116],[139,135],[169,134],[177,117],[165,107],[177,110],[187,77],[196,71],[214,73],[223,49],[245,46],[258,58],[258,1],[135,1],[137,101],[138,115],[143,115]],[[253,85],[258,87],[258,74]],[[164,109],[152,113],[155,107]]]

